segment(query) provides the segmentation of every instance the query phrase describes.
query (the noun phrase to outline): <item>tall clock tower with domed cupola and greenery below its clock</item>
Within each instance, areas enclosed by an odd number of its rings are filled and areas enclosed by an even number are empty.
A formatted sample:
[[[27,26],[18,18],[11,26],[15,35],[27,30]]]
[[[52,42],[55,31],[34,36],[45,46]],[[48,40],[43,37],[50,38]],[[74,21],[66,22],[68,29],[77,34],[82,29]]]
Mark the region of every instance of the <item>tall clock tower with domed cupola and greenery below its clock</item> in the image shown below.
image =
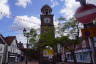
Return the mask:
[[[45,34],[43,36],[44,38],[55,38],[53,16],[52,8],[50,6],[44,5],[41,8],[41,37]],[[50,37],[48,37],[49,35]]]

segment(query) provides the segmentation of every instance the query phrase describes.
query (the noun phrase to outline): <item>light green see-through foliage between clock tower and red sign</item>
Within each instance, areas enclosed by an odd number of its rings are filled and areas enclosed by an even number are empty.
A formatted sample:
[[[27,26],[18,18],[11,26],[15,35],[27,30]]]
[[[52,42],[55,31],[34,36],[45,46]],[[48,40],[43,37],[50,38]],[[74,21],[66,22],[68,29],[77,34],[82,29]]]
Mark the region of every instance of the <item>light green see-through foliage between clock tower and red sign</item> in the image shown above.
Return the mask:
[[[81,26],[75,18],[71,18],[64,23],[58,24],[57,33],[60,34],[60,36],[67,35],[73,38],[76,35],[79,36]]]

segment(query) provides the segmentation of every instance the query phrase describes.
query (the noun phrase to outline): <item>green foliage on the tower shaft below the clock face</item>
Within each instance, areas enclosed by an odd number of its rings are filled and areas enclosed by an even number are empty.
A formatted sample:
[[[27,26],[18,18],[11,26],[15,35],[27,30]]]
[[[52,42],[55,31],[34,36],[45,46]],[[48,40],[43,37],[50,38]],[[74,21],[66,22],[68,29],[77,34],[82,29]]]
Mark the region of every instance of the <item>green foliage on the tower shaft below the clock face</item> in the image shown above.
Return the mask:
[[[45,26],[43,29],[45,31],[40,34],[40,46],[52,46],[55,39],[54,27]]]

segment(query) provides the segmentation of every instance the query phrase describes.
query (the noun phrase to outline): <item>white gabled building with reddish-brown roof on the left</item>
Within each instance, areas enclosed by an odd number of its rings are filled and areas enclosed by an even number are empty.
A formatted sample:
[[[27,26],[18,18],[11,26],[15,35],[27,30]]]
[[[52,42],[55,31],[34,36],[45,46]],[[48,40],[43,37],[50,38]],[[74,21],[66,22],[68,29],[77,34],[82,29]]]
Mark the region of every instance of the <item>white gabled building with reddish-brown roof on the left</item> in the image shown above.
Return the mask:
[[[8,36],[5,38],[5,41],[8,44],[8,61],[17,61],[21,51],[18,48],[16,36]]]

